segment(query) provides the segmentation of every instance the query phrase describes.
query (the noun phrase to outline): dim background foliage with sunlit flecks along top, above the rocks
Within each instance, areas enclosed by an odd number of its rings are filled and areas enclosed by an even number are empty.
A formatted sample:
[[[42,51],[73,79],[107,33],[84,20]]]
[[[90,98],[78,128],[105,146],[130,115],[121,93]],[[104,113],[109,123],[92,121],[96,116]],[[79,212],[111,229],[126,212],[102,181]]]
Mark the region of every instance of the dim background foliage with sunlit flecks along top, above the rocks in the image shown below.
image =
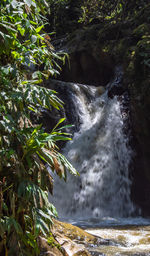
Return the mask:
[[[145,16],[142,12],[149,5],[149,0],[48,0],[48,3],[51,28],[64,35],[81,25],[104,21],[116,23],[136,16],[138,21]]]

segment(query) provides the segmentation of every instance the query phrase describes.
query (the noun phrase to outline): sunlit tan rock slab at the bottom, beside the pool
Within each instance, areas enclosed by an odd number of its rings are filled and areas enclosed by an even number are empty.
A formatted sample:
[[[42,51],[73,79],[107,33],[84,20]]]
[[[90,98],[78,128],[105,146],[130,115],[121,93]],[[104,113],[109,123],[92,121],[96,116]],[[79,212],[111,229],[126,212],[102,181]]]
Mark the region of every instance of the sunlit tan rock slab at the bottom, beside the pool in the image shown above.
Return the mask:
[[[45,238],[39,237],[40,256],[91,256],[90,248],[108,245],[109,240],[87,233],[83,229],[69,223],[54,220],[52,228],[54,243],[51,246]]]

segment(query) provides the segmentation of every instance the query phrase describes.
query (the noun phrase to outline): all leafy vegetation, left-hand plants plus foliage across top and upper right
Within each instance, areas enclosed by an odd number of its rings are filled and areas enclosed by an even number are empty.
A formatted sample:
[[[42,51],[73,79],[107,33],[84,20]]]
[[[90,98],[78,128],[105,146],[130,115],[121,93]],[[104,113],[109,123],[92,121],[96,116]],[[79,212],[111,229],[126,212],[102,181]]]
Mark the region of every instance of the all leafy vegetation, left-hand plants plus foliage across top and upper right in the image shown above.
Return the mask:
[[[148,0],[0,2],[1,255],[39,255],[38,236],[50,235],[52,218],[57,212],[48,201],[53,179],[46,164],[65,180],[67,169],[77,175],[57,146],[57,141],[70,140],[65,126],[59,128],[64,119],[46,133],[42,124],[34,123],[32,115],[38,120],[42,108],[63,108],[57,93],[42,86],[43,80],[61,72],[60,63],[67,56],[54,49],[51,37],[61,37],[92,24],[130,22],[136,47],[132,45],[128,68],[130,71],[134,64],[136,70],[142,65],[139,76],[147,76],[149,10]]]

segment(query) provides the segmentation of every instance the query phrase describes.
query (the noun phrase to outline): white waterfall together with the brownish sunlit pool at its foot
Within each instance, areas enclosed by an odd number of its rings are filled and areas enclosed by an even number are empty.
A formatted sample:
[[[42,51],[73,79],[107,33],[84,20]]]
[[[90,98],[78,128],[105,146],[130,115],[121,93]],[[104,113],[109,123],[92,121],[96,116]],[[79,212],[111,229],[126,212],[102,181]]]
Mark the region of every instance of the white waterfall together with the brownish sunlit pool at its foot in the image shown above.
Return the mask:
[[[150,220],[140,217],[131,200],[129,117],[123,102],[126,94],[108,97],[108,91],[121,86],[122,70],[104,91],[101,87],[64,83],[70,90],[71,115],[78,116],[80,129],[63,149],[63,154],[80,173],[68,175],[67,184],[55,177],[51,199],[62,221],[84,228],[110,241],[89,248],[94,256],[150,255]],[[72,107],[71,107],[72,109]]]

